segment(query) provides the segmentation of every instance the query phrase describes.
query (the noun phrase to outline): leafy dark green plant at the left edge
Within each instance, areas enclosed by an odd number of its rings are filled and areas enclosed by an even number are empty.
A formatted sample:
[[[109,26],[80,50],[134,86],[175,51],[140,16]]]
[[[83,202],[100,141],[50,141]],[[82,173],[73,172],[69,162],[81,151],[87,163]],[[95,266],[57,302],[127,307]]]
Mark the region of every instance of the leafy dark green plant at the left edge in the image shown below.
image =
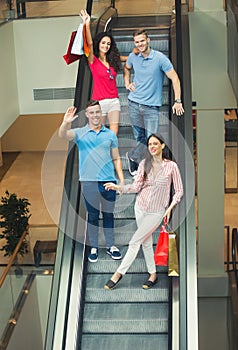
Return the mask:
[[[16,245],[22,234],[28,230],[29,206],[27,198],[18,198],[15,193],[5,192],[6,196],[1,197],[0,204],[0,239],[5,239],[6,243],[0,248],[5,251],[4,256],[13,254]],[[23,240],[18,252],[21,256],[28,253],[27,240]]]

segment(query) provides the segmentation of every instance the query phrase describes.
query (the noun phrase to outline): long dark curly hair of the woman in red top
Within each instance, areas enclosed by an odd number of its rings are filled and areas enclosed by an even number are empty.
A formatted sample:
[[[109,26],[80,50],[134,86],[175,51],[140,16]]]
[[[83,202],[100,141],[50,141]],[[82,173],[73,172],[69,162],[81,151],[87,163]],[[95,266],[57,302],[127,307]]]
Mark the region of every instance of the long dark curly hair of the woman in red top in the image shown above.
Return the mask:
[[[121,69],[121,60],[120,60],[120,52],[117,48],[115,39],[112,34],[109,32],[101,32],[99,33],[93,41],[93,52],[94,55],[99,58],[99,43],[105,37],[108,36],[111,39],[111,46],[108,52],[106,53],[107,62],[111,67],[114,68],[115,72],[119,72]]]

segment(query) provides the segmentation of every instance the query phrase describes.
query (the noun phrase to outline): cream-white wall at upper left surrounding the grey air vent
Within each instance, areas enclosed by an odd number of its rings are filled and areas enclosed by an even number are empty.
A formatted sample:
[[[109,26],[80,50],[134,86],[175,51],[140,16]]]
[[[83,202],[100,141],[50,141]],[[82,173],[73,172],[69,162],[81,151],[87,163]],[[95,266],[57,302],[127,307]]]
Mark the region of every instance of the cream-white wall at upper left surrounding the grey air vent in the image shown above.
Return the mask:
[[[20,114],[63,113],[73,100],[34,101],[33,89],[75,87],[78,62],[66,65],[79,16],[27,19],[0,27],[0,137]]]

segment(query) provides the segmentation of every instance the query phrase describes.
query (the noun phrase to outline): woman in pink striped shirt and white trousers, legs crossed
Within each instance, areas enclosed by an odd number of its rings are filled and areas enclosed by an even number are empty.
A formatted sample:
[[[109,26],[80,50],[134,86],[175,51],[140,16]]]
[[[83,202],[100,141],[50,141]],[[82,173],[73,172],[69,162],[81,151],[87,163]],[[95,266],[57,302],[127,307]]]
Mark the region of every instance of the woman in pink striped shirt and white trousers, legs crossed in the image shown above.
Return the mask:
[[[113,289],[125,275],[135,260],[142,245],[149,279],[143,289],[149,289],[157,282],[152,233],[163,219],[170,219],[171,211],[183,196],[183,185],[178,166],[165,158],[163,139],[152,134],[147,140],[148,152],[139,164],[138,172],[132,184],[119,186],[105,184],[107,190],[118,190],[121,193],[138,193],[135,203],[137,230],[129,242],[129,247],[117,271],[106,283],[105,289]],[[173,183],[174,194],[170,202],[170,190]]]

